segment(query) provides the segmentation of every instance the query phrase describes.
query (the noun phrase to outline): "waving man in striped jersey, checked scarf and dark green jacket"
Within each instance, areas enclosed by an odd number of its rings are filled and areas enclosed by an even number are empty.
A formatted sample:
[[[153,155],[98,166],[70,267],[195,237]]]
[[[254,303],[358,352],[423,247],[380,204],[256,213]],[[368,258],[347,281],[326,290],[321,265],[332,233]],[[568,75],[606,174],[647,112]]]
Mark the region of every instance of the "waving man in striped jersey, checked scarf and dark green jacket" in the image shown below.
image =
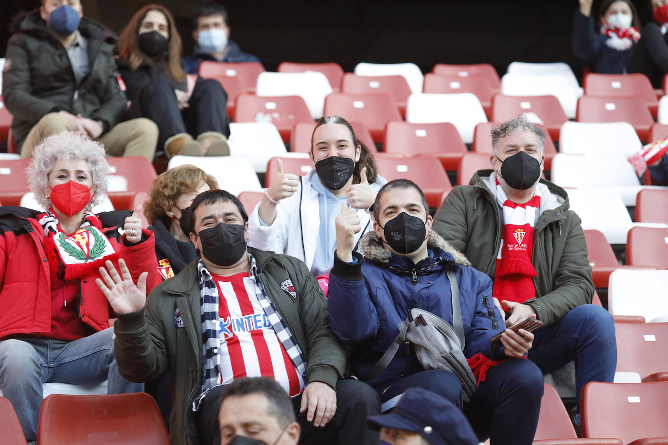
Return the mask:
[[[370,386],[343,379],[345,349],[329,328],[327,302],[303,262],[247,248],[248,216],[234,195],[205,191],[190,206],[200,252],[148,299],[120,260],[98,286],[118,314],[116,361],[132,382],[172,378],[172,444],[220,444],[222,386],[274,378],[291,396],[303,444],[375,444],[365,418],[380,410]],[[323,428],[315,428],[323,427]]]

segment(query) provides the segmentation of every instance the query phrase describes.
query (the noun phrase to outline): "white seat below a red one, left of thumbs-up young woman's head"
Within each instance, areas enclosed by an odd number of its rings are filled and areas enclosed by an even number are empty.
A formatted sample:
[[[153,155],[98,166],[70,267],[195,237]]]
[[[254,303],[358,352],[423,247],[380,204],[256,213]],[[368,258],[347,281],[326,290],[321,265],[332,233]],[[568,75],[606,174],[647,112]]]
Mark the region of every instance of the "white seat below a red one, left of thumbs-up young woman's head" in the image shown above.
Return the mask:
[[[265,173],[269,159],[287,153],[279,130],[270,122],[230,123],[228,144],[230,155],[245,157],[257,173]]]

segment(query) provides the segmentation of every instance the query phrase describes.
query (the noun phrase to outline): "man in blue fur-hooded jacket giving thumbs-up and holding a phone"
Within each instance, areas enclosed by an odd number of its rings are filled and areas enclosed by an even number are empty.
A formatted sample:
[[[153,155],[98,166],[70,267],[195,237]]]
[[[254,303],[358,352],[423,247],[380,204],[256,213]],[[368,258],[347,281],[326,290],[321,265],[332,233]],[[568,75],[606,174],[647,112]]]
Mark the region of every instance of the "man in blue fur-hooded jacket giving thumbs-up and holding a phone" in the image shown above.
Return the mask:
[[[452,324],[446,264],[458,280],[467,358],[520,358],[531,348],[534,336],[524,330],[507,329],[502,346],[490,344],[504,326],[492,302],[492,281],[432,232],[428,208],[415,183],[395,179],[383,185],[373,204],[374,232],[359,242],[364,257],[353,252],[354,234],[361,230],[357,213],[347,209],[337,217],[329,321],[334,334],[351,347],[351,372],[357,376],[367,374],[383,356],[412,308],[428,310]],[[480,440],[489,436],[494,445],[531,444],[543,388],[538,367],[529,360],[506,360],[486,375],[478,374],[478,380],[478,391],[464,405],[455,374],[424,370],[415,354],[399,348],[387,368],[368,383],[379,392],[383,410],[408,388],[424,388],[463,408]]]

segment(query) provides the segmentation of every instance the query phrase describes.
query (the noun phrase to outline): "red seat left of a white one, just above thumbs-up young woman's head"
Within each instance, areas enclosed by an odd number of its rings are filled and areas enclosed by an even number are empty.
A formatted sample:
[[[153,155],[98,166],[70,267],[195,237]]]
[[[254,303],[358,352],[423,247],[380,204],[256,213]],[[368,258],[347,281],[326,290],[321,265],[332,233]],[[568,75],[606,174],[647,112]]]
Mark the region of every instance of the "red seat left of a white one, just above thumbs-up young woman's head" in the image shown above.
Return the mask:
[[[325,99],[325,114],[337,114],[364,124],[374,141],[383,138],[385,124],[400,121],[401,114],[387,93],[333,93]]]

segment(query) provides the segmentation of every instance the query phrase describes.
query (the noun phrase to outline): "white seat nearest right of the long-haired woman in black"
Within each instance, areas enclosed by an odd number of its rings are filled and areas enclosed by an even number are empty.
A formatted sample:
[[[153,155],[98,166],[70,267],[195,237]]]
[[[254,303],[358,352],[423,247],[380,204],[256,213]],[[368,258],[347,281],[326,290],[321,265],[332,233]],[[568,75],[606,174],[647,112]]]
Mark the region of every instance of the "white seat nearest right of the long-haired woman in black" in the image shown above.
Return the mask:
[[[323,73],[261,73],[255,93],[259,96],[301,96],[313,119],[323,115],[325,97],[332,92]]]

